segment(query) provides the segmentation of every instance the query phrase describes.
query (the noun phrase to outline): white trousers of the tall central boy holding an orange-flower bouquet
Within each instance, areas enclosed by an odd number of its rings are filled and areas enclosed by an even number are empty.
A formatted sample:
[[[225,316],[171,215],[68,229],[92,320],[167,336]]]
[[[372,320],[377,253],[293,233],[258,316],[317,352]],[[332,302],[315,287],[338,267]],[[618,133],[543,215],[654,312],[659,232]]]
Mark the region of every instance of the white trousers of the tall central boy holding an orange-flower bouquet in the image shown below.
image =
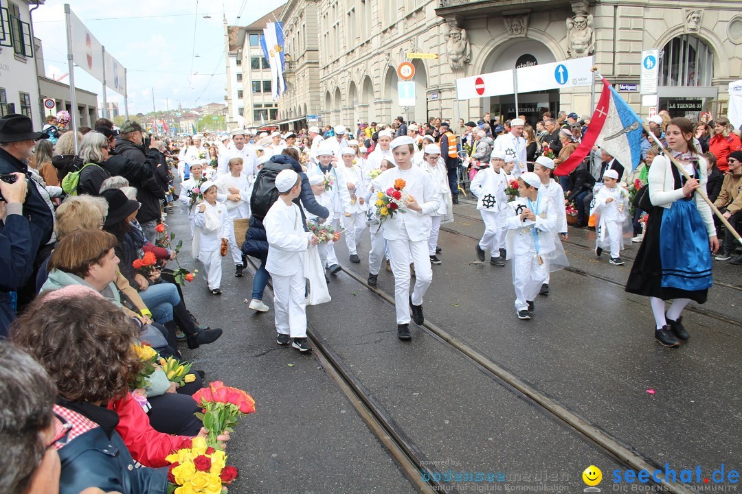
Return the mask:
[[[415,265],[415,288],[413,304],[422,305],[422,298],[433,281],[433,270],[430,269],[430,256],[427,253],[427,241],[411,241],[407,238],[390,240],[389,257],[394,273],[394,301],[396,304],[397,324],[410,322],[410,261]]]

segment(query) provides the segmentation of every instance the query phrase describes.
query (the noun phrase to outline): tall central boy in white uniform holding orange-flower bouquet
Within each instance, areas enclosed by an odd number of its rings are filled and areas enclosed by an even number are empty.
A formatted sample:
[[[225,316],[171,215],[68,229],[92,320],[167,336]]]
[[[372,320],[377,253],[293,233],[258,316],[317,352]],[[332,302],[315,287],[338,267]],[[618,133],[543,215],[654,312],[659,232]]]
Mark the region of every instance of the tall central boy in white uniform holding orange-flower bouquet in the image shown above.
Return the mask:
[[[427,254],[427,238],[430,236],[431,220],[438,211],[441,193],[433,184],[430,174],[413,167],[413,139],[408,136],[395,138],[390,148],[396,167],[381,173],[372,180],[374,190],[386,191],[394,187],[395,181],[404,181],[402,193],[407,194],[407,213],[397,213],[384,221],[384,238],[389,244],[390,260],[394,273],[394,298],[397,319],[397,336],[409,340],[410,310],[415,324],[423,324],[422,299],[433,281],[430,257]],[[410,260],[415,265],[415,288],[410,296]],[[409,305],[408,305],[409,304]]]

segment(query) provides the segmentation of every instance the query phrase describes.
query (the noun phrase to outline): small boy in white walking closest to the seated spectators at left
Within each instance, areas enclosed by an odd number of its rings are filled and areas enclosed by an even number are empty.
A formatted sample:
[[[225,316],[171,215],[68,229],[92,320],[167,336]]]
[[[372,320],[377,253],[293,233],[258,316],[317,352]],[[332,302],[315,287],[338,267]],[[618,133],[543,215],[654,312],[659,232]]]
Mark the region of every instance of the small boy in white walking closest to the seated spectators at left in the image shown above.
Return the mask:
[[[205,181],[201,186],[203,202],[197,206],[194,225],[194,252],[206,270],[209,290],[214,295],[221,295],[222,290],[222,243],[227,241],[226,223],[229,220],[227,208],[217,201],[217,184]],[[198,248],[196,248],[198,247]]]

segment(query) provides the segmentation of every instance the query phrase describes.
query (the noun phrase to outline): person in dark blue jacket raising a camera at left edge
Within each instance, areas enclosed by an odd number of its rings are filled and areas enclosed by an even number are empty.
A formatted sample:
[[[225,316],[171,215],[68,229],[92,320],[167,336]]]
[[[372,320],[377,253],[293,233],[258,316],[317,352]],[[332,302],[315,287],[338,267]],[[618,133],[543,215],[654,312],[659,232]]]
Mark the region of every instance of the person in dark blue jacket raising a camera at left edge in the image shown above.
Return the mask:
[[[34,252],[30,250],[31,230],[23,217],[27,184],[22,173],[13,173],[15,183],[0,179],[0,336],[7,338],[7,327],[16,318],[9,292],[15,292],[33,272]]]

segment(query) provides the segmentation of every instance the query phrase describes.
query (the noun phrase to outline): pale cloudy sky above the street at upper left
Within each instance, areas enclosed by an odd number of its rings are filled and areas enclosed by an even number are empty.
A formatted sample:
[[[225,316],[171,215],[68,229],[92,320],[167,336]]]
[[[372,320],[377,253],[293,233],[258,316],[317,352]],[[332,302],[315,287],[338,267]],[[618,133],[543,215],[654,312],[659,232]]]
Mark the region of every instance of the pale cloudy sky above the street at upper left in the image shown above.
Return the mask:
[[[158,112],[178,104],[223,104],[224,16],[231,26],[245,26],[278,6],[252,0],[47,0],[33,11],[33,31],[42,40],[46,76],[53,79],[68,73],[65,3],[128,70],[130,115],[152,111],[152,88]],[[98,94],[102,107],[102,83],[79,67],[74,77],[76,87]],[[110,89],[107,97],[123,114],[123,97]]]

